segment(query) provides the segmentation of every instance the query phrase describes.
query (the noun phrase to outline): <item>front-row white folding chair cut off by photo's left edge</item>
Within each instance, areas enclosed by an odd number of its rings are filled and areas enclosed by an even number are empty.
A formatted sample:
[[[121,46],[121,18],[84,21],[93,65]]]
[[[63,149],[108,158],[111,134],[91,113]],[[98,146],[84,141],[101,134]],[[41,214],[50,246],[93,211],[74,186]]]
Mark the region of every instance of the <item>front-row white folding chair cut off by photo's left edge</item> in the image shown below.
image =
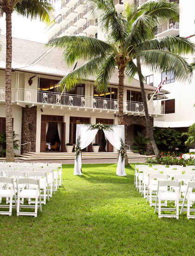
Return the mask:
[[[8,189],[8,184],[12,185],[10,189]],[[9,205],[0,204],[0,208],[8,208],[9,211],[0,211],[1,215],[12,215],[12,204],[13,204],[13,196],[15,205],[13,207],[17,207],[16,203],[16,194],[15,194],[15,187],[14,187],[14,179],[13,178],[7,178],[7,177],[0,177],[0,198],[9,198]]]

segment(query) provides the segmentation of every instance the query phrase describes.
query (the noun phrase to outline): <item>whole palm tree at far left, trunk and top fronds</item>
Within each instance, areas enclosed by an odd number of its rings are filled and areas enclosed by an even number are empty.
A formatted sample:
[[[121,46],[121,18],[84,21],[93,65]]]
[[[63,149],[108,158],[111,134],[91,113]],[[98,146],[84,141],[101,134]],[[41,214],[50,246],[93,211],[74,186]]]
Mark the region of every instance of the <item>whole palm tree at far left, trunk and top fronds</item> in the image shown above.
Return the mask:
[[[49,23],[53,11],[49,0],[0,0],[0,14],[6,14],[6,161],[14,162],[12,124],[12,13]]]

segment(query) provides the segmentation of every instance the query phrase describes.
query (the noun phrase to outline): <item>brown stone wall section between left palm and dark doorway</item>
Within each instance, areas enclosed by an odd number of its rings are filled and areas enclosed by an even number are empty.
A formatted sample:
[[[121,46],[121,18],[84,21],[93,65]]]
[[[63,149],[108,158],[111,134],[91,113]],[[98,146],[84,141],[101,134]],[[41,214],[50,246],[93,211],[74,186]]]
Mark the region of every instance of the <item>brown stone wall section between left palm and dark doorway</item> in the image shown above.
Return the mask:
[[[21,144],[31,141],[31,152],[36,151],[37,107],[22,108]],[[21,154],[29,152],[29,144],[21,146]]]

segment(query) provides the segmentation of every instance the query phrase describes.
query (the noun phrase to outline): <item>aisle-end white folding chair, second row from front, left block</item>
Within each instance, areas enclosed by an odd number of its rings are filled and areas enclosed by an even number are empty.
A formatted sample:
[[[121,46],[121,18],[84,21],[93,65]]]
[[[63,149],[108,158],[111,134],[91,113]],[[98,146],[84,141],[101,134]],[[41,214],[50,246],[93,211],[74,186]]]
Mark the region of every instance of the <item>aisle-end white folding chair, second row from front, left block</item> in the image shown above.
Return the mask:
[[[40,180],[40,192],[41,192],[41,198],[43,198],[43,201],[41,200],[41,203],[46,203],[46,193],[47,193],[47,199],[49,201],[49,189],[48,189],[48,179],[47,179],[47,172],[46,171],[32,171],[27,172],[28,178],[34,178]],[[36,185],[30,185],[30,188],[36,188]],[[43,192],[43,194],[42,194]],[[33,203],[31,199],[28,200],[28,203]]]

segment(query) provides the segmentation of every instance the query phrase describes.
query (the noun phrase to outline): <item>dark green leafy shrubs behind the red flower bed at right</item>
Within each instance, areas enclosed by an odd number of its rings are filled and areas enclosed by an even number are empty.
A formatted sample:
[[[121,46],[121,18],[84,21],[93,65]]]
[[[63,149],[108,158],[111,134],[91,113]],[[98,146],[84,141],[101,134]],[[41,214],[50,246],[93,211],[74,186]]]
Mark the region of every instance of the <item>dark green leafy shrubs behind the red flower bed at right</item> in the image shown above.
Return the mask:
[[[154,138],[158,148],[165,151],[175,151],[175,148],[178,148],[179,152],[187,152],[188,148],[185,146],[185,141],[187,136],[176,131],[174,128],[154,128]]]

